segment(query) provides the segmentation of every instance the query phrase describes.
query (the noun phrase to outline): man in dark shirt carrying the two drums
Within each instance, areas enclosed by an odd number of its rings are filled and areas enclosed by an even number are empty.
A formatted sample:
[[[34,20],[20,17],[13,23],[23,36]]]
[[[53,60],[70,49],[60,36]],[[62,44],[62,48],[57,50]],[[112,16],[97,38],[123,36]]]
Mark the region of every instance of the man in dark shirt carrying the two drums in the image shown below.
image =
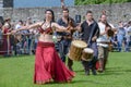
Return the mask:
[[[90,69],[92,70],[93,75],[96,75],[95,64],[98,54],[96,39],[99,36],[99,28],[93,18],[92,11],[87,11],[85,17],[86,20],[81,24],[81,32],[83,33],[82,39],[87,42],[88,48],[94,50],[94,54],[92,61],[82,61],[82,64],[85,70],[85,75],[90,75]]]

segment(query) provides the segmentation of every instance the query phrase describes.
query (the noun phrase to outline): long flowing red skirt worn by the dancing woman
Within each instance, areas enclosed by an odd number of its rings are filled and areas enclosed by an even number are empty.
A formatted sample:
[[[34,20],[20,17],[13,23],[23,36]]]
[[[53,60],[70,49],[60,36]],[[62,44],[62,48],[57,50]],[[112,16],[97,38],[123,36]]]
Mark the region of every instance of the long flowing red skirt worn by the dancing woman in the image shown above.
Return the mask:
[[[71,80],[74,73],[67,69],[59,58],[55,44],[39,41],[36,49],[34,83]]]

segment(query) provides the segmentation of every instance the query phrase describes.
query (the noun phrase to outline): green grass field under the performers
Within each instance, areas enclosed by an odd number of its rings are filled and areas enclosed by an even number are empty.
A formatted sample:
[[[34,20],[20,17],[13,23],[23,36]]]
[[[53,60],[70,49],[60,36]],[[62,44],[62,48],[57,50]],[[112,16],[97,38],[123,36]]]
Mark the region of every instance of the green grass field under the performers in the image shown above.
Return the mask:
[[[81,62],[74,62],[71,83],[34,85],[34,55],[0,57],[0,87],[131,87],[131,52],[111,52],[107,70],[85,76]]]

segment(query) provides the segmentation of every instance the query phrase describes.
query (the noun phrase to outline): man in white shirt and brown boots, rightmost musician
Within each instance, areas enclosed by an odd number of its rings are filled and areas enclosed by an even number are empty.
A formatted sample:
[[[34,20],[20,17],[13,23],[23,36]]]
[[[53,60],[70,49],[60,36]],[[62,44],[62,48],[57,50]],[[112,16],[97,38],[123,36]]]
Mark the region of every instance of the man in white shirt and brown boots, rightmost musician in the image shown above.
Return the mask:
[[[108,29],[115,28],[111,24],[107,23],[107,16],[106,14],[100,15],[100,20],[98,22],[100,36],[97,39],[97,46],[98,46],[98,61],[99,61],[99,67],[98,72],[103,72],[106,67],[107,59],[108,59],[108,47],[110,42],[110,37],[107,35]]]

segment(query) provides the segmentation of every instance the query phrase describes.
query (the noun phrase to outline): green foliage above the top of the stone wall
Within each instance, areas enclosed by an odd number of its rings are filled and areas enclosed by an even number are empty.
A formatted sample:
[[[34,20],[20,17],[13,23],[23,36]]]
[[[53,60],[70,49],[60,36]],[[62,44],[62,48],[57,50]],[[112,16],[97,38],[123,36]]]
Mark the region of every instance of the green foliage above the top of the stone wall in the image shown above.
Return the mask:
[[[75,0],[75,5],[84,4],[105,4],[105,3],[124,3],[131,2],[131,0]]]

